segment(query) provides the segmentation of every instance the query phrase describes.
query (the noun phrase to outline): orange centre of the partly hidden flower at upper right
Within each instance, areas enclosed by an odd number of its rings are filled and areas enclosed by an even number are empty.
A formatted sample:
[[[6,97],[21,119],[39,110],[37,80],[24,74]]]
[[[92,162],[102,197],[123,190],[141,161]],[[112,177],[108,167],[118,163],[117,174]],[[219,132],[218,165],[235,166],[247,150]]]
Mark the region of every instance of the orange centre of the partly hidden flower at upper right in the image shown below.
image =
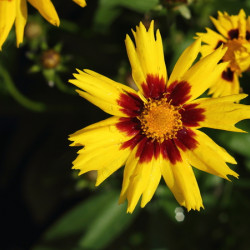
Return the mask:
[[[249,58],[249,53],[244,47],[244,43],[246,41],[243,39],[233,39],[225,44],[228,49],[223,60],[230,61],[230,69],[238,74],[245,70],[242,69],[241,64],[243,61],[246,61],[246,58]]]

